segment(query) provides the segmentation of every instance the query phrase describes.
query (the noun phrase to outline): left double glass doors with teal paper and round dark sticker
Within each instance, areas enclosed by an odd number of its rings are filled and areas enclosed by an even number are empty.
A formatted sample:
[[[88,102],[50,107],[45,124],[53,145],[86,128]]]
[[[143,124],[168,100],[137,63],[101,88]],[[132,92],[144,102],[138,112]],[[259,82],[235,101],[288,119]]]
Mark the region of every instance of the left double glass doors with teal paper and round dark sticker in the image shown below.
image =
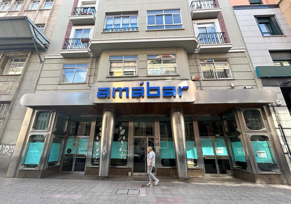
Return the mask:
[[[61,173],[84,173],[88,151],[88,137],[68,137]]]

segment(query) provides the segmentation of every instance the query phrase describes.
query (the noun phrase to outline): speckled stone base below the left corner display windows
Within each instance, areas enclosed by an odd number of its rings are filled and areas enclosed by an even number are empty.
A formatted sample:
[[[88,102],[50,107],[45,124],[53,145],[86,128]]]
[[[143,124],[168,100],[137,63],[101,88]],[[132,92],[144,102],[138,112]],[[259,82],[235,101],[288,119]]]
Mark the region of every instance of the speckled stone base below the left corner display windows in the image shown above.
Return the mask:
[[[60,166],[51,167],[45,170],[22,170],[20,169],[17,178],[44,178],[54,174],[58,174]]]

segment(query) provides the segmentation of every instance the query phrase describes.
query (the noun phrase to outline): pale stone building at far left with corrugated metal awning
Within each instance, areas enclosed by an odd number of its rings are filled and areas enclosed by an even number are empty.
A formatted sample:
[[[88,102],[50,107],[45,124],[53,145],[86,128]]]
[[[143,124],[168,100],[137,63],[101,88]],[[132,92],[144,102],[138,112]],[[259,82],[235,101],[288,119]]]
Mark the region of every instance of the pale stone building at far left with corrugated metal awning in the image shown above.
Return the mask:
[[[33,93],[61,0],[0,1],[0,176],[5,176]]]

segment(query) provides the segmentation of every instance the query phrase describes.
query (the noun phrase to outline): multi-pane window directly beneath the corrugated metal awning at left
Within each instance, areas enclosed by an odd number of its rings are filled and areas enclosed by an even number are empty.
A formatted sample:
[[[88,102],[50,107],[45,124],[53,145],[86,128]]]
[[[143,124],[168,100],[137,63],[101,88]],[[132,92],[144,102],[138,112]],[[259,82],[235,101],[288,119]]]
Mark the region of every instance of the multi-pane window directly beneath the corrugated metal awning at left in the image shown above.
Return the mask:
[[[2,74],[21,74],[26,58],[9,58]]]

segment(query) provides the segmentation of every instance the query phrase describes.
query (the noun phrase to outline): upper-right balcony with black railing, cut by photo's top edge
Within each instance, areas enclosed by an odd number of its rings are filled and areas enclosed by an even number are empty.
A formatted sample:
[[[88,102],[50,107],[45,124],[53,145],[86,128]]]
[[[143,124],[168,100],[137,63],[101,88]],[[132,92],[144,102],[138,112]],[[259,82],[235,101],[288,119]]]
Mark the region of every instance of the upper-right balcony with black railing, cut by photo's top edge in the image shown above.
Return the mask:
[[[221,8],[214,0],[192,1],[190,5],[192,19],[217,18]]]

